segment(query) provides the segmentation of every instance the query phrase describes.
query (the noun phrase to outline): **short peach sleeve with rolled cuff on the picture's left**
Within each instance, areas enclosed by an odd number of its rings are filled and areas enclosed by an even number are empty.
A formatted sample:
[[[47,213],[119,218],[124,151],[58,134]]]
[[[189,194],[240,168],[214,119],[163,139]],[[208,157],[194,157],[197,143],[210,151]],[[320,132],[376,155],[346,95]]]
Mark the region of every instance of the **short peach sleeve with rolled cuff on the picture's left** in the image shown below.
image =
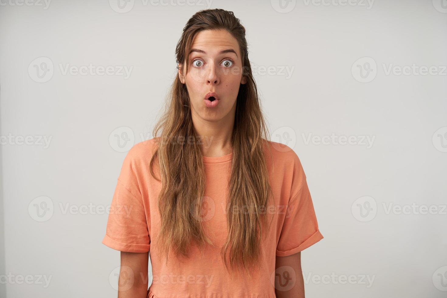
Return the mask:
[[[122,252],[148,252],[151,243],[135,167],[137,163],[129,151],[118,177],[102,240],[103,244]]]

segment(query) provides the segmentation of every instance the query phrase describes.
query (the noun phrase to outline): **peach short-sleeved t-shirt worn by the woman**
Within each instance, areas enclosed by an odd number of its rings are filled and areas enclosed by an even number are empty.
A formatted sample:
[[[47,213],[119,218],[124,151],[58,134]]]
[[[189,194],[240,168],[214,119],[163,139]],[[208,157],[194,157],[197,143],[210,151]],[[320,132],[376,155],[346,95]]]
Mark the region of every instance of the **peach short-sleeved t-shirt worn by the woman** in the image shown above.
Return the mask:
[[[149,171],[156,143],[154,139],[137,143],[127,153],[102,243],[123,252],[149,252],[153,280],[148,298],[275,298],[275,257],[295,254],[323,239],[298,156],[283,144],[270,141],[269,145],[273,164],[268,153],[266,160],[274,194],[274,203],[269,205],[274,205],[275,211],[269,208],[266,212],[271,212],[274,219],[267,240],[261,244],[262,269],[251,271],[251,279],[239,276],[231,280],[220,256],[227,237],[225,196],[232,153],[203,157],[207,205],[202,208],[206,210],[202,219],[207,235],[217,247],[207,246],[202,255],[193,246],[190,259],[179,261],[170,254],[167,264],[157,251],[157,197],[161,183]],[[159,172],[155,173],[158,178]]]

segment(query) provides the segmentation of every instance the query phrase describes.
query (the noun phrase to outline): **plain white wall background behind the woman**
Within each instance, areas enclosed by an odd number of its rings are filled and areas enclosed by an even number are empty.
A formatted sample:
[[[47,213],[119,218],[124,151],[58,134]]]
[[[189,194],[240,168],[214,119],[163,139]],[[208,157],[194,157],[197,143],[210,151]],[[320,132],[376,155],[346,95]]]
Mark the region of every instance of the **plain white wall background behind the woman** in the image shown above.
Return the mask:
[[[108,214],[65,208],[108,206],[126,146],[152,138],[181,30],[209,8],[163,3],[0,0],[0,297],[116,297],[119,252],[101,243]],[[447,295],[441,4],[211,2],[245,26],[272,140],[291,146],[306,172],[325,237],[302,252],[306,297]],[[63,72],[90,64],[131,72]],[[38,78],[35,67],[50,71]],[[437,211],[420,214],[424,206]],[[30,284],[17,277],[26,275]]]

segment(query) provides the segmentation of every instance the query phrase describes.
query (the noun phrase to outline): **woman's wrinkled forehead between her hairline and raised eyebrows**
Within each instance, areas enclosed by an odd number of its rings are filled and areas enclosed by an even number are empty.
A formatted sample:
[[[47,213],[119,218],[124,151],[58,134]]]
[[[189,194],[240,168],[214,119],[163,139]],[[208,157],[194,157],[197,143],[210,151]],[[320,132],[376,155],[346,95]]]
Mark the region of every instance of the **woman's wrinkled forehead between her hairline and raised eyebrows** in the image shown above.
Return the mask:
[[[195,34],[191,48],[204,50],[207,54],[214,54],[223,49],[233,49],[239,55],[239,46],[227,30],[203,30]]]

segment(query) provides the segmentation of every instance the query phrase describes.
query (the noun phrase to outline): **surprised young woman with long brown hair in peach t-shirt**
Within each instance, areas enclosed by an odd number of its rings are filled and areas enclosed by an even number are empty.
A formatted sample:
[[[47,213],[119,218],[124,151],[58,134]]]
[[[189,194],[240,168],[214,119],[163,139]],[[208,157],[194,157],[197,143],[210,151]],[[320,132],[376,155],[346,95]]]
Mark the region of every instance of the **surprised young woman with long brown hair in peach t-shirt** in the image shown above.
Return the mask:
[[[269,140],[245,28],[199,11],[176,56],[166,111],[124,159],[102,241],[121,251],[118,297],[304,297],[300,252],[323,236],[298,156]]]

